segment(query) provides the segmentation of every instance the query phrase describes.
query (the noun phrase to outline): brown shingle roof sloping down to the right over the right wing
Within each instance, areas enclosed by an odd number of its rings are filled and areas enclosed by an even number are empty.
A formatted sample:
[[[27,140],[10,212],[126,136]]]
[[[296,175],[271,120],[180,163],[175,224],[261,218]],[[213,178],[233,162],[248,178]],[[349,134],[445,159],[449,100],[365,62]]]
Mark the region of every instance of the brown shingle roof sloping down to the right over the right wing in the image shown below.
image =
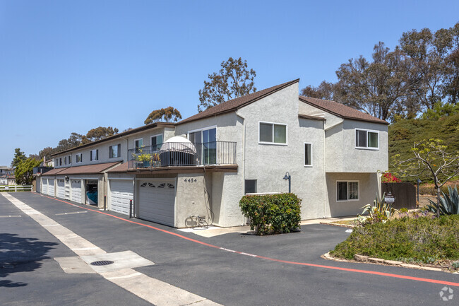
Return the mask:
[[[360,112],[359,110],[355,110],[352,107],[346,106],[342,103],[338,103],[335,101],[304,97],[302,95],[299,96],[299,100],[341,118],[389,124],[383,119],[373,117],[371,116],[371,114],[365,114],[364,112]]]

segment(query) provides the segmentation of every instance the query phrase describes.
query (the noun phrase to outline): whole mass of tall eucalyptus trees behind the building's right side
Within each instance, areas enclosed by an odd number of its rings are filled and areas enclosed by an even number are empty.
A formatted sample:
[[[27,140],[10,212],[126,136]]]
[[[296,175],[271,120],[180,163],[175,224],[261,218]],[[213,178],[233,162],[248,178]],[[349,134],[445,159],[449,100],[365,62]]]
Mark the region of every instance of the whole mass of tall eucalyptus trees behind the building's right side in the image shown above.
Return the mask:
[[[369,61],[342,64],[338,81],[306,86],[302,95],[335,100],[392,122],[414,118],[437,103],[459,101],[459,23],[435,32],[403,33],[393,51],[379,42]]]

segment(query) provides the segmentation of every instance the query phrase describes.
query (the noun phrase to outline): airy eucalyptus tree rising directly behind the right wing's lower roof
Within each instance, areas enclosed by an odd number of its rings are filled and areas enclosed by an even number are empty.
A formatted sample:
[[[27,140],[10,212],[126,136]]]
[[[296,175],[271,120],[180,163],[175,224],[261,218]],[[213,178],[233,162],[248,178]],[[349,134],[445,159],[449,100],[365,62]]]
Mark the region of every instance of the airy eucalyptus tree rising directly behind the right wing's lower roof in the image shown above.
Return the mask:
[[[396,48],[393,52],[379,42],[373,61],[364,57],[342,64],[336,75],[345,105],[386,120],[395,113],[414,116],[419,110],[412,88],[419,82],[412,61]]]

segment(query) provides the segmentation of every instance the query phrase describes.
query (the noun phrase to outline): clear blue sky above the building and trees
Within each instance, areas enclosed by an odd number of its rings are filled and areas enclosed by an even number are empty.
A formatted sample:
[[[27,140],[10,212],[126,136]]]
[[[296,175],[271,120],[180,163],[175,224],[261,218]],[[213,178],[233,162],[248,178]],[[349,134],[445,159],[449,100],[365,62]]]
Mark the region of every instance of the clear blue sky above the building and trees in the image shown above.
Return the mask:
[[[0,165],[71,132],[143,125],[198,90],[228,57],[256,88],[336,81],[340,64],[411,29],[450,28],[459,1],[0,0]]]

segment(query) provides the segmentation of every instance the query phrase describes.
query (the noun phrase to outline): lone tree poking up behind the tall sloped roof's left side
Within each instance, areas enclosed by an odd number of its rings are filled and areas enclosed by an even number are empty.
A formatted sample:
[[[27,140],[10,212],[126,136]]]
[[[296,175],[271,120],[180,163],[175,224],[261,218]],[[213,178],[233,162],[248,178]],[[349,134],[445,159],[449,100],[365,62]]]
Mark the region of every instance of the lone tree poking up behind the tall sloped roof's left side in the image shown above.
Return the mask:
[[[198,112],[207,110],[226,100],[255,93],[254,78],[256,72],[249,69],[246,60],[233,59],[222,61],[222,69],[208,75],[209,81],[204,81],[204,88],[199,90]]]

